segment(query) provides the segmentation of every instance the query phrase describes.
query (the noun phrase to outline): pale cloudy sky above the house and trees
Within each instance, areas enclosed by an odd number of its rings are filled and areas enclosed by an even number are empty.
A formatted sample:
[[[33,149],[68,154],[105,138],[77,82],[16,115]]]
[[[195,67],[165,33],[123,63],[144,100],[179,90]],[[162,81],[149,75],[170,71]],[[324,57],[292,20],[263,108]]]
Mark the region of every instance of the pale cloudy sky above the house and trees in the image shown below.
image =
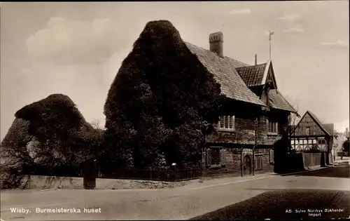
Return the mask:
[[[1,3],[1,140],[21,107],[68,95],[104,126],[104,102],[146,23],[169,20],[184,41],[224,55],[269,59],[279,91],[300,115],[349,127],[349,1]]]

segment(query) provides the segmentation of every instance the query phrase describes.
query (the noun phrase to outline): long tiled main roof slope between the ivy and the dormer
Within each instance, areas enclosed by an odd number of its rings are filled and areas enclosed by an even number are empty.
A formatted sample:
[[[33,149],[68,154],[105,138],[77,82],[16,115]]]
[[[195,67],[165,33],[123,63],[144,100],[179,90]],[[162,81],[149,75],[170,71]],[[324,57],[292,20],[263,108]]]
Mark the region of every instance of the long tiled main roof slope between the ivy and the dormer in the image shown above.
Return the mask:
[[[221,84],[221,93],[234,100],[265,106],[260,98],[246,86],[236,70],[237,67],[248,66],[247,64],[228,57],[221,58],[216,53],[191,43],[186,42],[186,46],[197,55],[204,67],[214,74],[216,81]]]

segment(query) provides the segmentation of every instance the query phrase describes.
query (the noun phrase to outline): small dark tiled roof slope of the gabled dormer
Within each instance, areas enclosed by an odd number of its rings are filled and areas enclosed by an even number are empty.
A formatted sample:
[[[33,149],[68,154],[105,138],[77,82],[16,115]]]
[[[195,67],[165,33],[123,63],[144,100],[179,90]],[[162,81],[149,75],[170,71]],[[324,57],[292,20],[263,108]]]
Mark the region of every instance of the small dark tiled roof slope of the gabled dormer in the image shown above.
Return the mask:
[[[236,70],[247,86],[259,86],[264,84],[264,82],[262,82],[262,79],[264,78],[266,65],[267,63],[246,67],[238,67],[236,68]]]

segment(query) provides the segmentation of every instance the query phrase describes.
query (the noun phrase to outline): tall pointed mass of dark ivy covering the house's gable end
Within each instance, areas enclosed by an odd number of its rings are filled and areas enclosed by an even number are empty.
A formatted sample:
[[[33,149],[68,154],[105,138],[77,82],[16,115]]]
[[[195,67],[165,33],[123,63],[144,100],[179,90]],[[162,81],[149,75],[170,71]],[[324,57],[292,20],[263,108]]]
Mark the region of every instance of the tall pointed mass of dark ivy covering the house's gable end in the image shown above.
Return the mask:
[[[109,156],[138,168],[162,157],[168,165],[195,165],[204,122],[218,121],[221,98],[220,85],[175,27],[148,22],[106,99]]]

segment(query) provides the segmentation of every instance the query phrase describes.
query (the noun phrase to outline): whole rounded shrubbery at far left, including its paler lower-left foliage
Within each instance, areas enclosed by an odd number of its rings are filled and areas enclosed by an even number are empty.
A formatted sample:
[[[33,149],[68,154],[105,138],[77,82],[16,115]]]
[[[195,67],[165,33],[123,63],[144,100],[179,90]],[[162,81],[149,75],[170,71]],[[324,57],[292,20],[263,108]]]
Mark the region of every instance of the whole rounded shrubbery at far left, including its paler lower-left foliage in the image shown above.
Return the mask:
[[[1,142],[3,188],[19,187],[28,168],[78,166],[94,158],[104,142],[104,130],[87,123],[66,95],[50,95],[15,116]]]

